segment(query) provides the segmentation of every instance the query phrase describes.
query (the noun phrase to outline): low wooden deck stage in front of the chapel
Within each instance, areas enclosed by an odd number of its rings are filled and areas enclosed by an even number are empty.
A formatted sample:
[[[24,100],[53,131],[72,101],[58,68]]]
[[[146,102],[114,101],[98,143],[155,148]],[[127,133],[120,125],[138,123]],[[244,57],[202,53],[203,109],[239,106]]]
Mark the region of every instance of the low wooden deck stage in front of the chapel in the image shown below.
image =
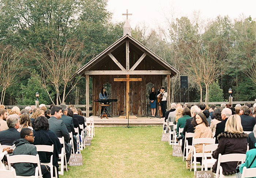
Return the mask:
[[[119,116],[100,118],[98,116],[90,116],[94,118],[95,127],[117,127],[117,126],[127,126],[128,119],[119,118]],[[163,125],[163,118],[152,118],[148,117],[138,117],[137,119],[129,118],[129,126],[159,126]]]

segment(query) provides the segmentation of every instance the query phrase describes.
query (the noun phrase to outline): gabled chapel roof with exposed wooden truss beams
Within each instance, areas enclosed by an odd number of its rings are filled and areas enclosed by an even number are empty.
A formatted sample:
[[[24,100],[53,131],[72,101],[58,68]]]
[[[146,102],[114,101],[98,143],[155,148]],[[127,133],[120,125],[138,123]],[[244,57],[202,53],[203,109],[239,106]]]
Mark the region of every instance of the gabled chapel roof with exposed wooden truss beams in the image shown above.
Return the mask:
[[[128,64],[126,59],[127,51],[129,56],[131,56],[128,57],[131,58],[131,60],[128,60]],[[80,68],[77,73],[83,76],[125,74],[166,74],[174,76],[178,71],[142,43],[127,34]]]

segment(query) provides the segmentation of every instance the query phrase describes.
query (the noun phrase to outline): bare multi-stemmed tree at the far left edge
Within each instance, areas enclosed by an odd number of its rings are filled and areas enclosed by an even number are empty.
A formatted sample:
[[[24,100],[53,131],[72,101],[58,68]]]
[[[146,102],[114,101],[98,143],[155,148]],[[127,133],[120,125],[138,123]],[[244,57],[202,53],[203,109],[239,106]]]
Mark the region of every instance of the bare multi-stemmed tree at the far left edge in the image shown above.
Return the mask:
[[[20,63],[21,53],[16,52],[12,46],[1,45],[0,50],[0,83],[3,87],[0,104],[4,104],[6,89],[18,80],[17,76],[20,73],[19,69],[22,64]]]

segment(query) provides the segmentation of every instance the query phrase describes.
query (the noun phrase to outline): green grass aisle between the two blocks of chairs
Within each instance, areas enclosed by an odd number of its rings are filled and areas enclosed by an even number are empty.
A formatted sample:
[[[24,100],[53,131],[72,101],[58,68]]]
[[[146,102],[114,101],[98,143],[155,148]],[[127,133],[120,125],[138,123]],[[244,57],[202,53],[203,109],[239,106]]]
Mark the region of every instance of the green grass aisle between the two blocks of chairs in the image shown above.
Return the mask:
[[[83,166],[71,166],[60,178],[192,178],[172,146],[161,142],[162,126],[95,128],[91,146],[83,149]]]

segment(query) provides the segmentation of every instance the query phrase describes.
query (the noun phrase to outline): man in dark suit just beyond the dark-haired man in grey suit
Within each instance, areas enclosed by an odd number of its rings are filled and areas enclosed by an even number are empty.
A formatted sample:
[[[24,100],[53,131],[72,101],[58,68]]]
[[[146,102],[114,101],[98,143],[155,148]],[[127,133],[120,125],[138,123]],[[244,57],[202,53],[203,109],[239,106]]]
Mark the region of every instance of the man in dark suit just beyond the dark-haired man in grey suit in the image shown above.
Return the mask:
[[[76,152],[77,151],[77,143],[76,143],[75,129],[74,129],[74,125],[73,125],[73,118],[67,116],[67,113],[68,113],[68,106],[67,105],[61,104],[60,107],[61,107],[61,111],[63,113],[61,115],[60,120],[65,122],[65,125],[68,129],[68,132],[69,133],[72,132],[72,134],[73,134],[73,144],[74,144],[74,149],[75,149],[75,152]]]

